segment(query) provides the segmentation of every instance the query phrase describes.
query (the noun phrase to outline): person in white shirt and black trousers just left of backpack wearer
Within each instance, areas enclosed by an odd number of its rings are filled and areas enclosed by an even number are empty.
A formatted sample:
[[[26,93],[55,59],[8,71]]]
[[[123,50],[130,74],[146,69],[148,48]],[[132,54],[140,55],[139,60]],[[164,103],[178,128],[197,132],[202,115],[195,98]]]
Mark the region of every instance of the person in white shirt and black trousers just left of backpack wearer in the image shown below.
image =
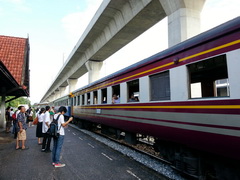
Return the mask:
[[[51,137],[48,135],[47,131],[50,127],[51,119],[50,119],[50,106],[46,106],[46,112],[42,125],[42,133],[43,133],[43,142],[42,142],[42,152],[51,152]]]

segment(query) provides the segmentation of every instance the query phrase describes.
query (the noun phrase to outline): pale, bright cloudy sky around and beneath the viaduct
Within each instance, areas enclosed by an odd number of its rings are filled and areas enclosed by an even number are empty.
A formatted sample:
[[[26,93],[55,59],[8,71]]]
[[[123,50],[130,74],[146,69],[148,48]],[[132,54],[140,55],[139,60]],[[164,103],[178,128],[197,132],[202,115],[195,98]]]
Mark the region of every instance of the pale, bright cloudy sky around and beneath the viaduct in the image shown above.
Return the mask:
[[[102,1],[0,0],[0,35],[29,37],[32,103],[42,99]],[[201,32],[239,15],[240,0],[206,0]],[[167,41],[165,18],[106,59],[100,76],[166,49]],[[87,77],[79,78],[77,88],[87,84]]]

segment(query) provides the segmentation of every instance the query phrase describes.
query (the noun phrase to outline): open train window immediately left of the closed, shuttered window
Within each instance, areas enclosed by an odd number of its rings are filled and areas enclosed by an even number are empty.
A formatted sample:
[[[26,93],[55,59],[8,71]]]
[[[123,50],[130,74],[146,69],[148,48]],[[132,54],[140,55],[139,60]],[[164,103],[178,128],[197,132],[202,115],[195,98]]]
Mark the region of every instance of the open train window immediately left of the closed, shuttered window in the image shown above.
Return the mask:
[[[139,101],[139,79],[127,83],[128,87],[128,102]]]

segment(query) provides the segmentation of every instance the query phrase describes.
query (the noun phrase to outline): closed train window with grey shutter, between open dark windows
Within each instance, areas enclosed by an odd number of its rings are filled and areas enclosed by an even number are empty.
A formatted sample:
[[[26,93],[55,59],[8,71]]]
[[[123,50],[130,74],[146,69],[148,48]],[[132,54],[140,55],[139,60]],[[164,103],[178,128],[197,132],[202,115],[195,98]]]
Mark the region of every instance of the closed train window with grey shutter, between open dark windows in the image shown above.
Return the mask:
[[[170,100],[169,71],[150,76],[151,101]]]

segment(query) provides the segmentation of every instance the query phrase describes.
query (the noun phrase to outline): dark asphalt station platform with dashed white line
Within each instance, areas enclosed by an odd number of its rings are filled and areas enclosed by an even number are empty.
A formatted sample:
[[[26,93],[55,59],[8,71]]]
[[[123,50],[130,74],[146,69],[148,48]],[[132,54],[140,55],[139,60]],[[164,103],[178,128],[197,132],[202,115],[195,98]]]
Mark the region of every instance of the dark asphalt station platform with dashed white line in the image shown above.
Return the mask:
[[[51,153],[41,152],[35,132],[36,126],[27,129],[28,150],[15,150],[13,135],[0,132],[1,180],[162,179],[157,172],[72,127],[65,129],[61,153],[61,162],[66,166],[55,168]]]

